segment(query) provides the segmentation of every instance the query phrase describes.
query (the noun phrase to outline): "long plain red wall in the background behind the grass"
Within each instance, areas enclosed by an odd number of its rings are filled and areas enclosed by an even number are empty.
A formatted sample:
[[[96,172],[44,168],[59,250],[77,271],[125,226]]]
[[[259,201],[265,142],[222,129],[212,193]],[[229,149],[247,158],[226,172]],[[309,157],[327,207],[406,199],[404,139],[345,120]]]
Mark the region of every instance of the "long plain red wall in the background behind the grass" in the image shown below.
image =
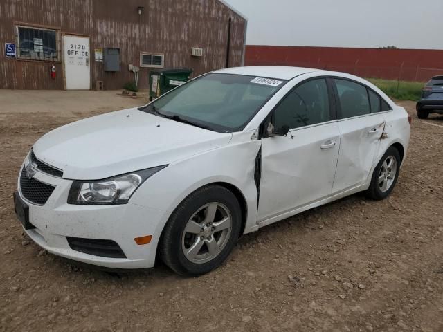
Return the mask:
[[[361,77],[426,81],[443,75],[443,50],[246,46],[245,66],[302,66]]]

